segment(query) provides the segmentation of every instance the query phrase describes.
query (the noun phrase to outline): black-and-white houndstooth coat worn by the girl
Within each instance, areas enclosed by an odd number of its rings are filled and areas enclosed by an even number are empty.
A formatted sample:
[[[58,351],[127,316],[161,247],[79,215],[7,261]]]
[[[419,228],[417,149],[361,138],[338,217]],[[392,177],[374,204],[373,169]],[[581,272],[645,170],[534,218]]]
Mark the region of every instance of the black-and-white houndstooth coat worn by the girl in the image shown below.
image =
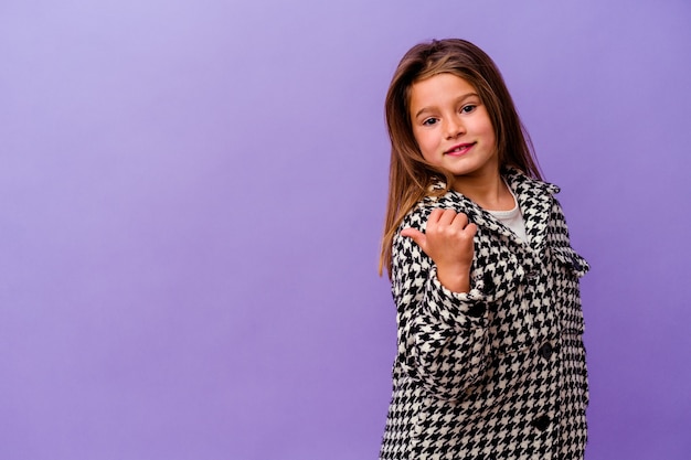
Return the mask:
[[[578,278],[555,185],[503,171],[530,244],[459,193],[426,197],[478,226],[471,289],[455,293],[410,238],[393,242],[398,350],[382,460],[583,459],[588,403]]]

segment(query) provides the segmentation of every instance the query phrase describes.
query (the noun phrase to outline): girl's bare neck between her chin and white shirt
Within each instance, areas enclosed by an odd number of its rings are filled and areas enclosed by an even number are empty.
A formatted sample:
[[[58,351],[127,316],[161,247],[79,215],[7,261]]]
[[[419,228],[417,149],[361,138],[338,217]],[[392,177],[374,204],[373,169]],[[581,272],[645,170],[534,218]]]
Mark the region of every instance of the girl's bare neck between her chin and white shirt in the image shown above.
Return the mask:
[[[515,201],[506,182],[499,174],[456,178],[453,189],[472,200],[480,207],[488,211],[511,211]]]

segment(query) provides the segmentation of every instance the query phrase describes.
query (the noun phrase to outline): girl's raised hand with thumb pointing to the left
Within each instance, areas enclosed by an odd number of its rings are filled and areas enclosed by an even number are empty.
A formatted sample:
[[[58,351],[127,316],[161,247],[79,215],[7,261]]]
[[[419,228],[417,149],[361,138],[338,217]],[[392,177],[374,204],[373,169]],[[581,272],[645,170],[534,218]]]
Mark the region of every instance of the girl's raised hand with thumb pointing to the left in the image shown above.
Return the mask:
[[[472,238],[478,227],[468,217],[454,210],[435,208],[427,218],[425,233],[415,228],[403,228],[402,236],[410,237],[437,266],[437,278],[448,290],[470,290],[472,266]]]

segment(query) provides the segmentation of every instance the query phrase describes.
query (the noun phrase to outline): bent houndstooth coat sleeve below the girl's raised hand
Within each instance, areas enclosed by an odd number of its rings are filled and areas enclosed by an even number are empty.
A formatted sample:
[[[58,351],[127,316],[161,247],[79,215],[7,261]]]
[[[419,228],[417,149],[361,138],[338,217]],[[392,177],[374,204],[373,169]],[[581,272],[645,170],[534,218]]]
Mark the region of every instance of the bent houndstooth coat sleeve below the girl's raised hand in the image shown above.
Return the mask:
[[[401,228],[424,228],[426,213]],[[430,395],[459,399],[479,383],[490,360],[486,301],[476,287],[451,292],[437,279],[433,261],[400,233],[392,247],[392,292],[397,308],[398,360]]]

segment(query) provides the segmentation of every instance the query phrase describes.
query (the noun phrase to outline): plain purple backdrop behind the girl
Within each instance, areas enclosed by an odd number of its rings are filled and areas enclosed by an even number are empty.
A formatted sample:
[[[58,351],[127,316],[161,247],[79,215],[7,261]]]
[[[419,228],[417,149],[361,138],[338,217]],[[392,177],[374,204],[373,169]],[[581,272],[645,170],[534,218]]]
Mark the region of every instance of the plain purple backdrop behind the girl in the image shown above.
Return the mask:
[[[588,460],[691,457],[691,3],[0,2],[0,459],[374,459],[383,98],[499,64],[583,280]]]

